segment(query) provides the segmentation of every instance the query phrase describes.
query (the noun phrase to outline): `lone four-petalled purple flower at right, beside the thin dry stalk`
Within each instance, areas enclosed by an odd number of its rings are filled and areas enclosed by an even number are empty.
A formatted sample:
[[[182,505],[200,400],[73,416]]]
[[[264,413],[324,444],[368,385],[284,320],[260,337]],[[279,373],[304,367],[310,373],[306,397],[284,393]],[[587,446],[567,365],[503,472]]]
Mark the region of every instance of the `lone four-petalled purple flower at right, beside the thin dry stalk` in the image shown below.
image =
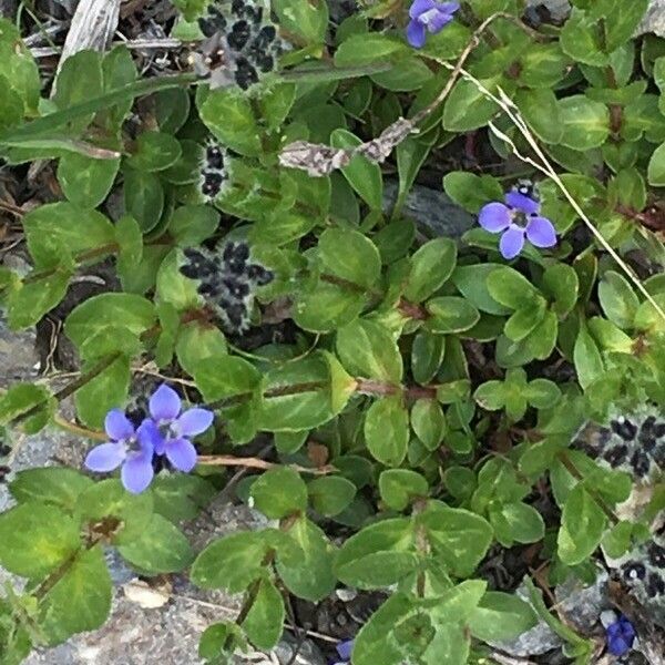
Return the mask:
[[[553,247],[556,232],[552,222],[540,216],[540,203],[516,190],[505,195],[505,204],[484,205],[479,215],[480,225],[490,233],[500,233],[499,249],[503,258],[514,258],[524,247],[524,236],[535,247]]]

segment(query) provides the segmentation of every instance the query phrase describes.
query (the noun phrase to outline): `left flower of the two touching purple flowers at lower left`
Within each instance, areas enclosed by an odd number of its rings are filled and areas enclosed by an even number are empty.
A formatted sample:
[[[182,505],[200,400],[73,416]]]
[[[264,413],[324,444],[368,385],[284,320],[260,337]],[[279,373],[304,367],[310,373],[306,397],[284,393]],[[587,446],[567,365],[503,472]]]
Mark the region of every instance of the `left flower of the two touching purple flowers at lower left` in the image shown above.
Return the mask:
[[[120,409],[109,411],[104,429],[111,441],[93,448],[85,458],[85,466],[100,473],[122,466],[120,477],[125,489],[134,494],[143,492],[154,475],[154,444],[149,423],[144,421],[135,430]]]

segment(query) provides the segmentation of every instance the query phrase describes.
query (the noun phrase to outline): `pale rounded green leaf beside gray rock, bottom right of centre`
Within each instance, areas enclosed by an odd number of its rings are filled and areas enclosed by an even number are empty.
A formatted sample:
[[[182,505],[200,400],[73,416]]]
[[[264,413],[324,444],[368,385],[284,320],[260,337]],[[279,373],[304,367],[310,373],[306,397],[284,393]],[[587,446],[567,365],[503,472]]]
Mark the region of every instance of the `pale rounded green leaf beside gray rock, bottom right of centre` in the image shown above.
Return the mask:
[[[473,611],[469,627],[478,640],[514,640],[538,623],[531,605],[512,593],[488,591]]]

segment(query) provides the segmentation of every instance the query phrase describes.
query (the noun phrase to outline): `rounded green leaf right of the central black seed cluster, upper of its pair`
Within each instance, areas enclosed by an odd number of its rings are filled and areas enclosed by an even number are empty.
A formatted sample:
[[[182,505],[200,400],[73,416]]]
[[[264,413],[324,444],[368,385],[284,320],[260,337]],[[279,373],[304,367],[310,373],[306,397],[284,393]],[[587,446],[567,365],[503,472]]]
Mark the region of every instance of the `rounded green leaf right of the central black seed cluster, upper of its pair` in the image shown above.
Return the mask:
[[[381,275],[379,250],[361,233],[328,228],[321,234],[318,248],[323,272],[368,289]]]

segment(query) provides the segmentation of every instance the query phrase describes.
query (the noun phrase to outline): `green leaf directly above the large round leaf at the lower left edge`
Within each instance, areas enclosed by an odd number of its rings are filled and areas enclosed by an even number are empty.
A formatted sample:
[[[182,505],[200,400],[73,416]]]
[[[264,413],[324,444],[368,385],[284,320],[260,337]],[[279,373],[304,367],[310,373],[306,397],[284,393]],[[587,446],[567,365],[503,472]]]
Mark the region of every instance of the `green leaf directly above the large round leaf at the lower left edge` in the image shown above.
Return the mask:
[[[81,492],[93,484],[74,469],[52,467],[19,471],[9,490],[19,503],[43,501],[73,511]]]

